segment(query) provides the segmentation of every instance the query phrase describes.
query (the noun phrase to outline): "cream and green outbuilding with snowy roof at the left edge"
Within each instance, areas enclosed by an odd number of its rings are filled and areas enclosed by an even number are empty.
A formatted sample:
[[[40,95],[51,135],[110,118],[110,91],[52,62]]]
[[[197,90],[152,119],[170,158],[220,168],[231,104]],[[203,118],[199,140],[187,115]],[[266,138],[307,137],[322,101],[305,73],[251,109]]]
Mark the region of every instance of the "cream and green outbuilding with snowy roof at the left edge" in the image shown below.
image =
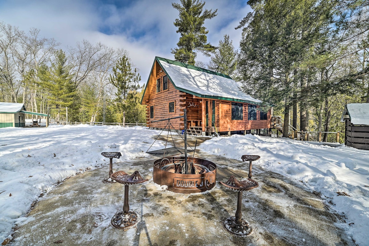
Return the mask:
[[[47,117],[47,114],[26,111],[23,103],[0,102],[0,128],[25,127],[25,114]]]

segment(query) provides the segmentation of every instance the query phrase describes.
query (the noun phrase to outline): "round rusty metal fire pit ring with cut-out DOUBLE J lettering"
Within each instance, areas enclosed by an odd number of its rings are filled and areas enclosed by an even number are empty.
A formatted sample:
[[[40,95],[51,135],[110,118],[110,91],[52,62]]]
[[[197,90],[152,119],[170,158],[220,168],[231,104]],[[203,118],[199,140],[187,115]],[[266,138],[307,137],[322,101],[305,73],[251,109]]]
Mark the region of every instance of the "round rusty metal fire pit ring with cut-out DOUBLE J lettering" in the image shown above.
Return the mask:
[[[211,190],[215,186],[217,166],[208,160],[187,157],[191,173],[180,173],[184,156],[172,156],[154,162],[153,180],[156,184],[168,186],[168,190],[190,194]]]

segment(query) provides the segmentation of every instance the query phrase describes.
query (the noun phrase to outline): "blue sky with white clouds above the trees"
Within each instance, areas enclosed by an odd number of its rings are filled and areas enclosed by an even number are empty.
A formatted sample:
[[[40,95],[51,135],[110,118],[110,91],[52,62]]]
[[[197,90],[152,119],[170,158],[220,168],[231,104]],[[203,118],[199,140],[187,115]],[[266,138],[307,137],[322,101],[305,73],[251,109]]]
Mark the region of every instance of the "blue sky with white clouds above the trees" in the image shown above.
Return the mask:
[[[86,39],[127,50],[146,82],[155,56],[174,59],[170,49],[179,40],[173,22],[179,0],[0,0],[0,21],[27,32],[38,28],[41,36],[55,38],[60,48]],[[238,49],[241,30],[234,28],[251,10],[246,0],[207,0],[218,15],[205,22],[208,42],[217,46],[224,34]],[[207,62],[198,54],[196,60]]]

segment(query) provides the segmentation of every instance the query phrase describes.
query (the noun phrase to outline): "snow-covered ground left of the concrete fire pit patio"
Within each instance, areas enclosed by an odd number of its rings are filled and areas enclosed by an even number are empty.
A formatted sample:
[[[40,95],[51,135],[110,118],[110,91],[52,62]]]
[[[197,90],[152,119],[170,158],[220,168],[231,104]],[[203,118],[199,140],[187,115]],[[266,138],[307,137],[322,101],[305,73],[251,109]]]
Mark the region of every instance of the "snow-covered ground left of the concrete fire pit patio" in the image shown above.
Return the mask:
[[[0,242],[23,222],[32,202],[67,177],[102,165],[101,152],[121,152],[119,160],[146,156],[160,131],[143,127],[51,125],[0,128]],[[152,149],[161,148],[156,141]]]

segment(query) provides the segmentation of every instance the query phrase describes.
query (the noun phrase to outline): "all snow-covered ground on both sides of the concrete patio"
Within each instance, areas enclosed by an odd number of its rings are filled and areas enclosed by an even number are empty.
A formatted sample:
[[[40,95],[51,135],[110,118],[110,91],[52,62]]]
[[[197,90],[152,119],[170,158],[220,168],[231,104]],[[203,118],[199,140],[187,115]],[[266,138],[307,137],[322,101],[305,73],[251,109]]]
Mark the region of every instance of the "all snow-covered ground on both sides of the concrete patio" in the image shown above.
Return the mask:
[[[119,151],[120,160],[141,156],[160,131],[144,127],[51,125],[48,128],[0,129],[0,242],[11,228],[27,220],[32,202],[66,177],[107,165],[104,151]],[[162,148],[156,141],[151,150]],[[284,138],[234,135],[212,138],[199,149],[233,159],[260,155],[264,167],[321,193],[339,214],[357,244],[369,245],[369,151],[336,148]]]

